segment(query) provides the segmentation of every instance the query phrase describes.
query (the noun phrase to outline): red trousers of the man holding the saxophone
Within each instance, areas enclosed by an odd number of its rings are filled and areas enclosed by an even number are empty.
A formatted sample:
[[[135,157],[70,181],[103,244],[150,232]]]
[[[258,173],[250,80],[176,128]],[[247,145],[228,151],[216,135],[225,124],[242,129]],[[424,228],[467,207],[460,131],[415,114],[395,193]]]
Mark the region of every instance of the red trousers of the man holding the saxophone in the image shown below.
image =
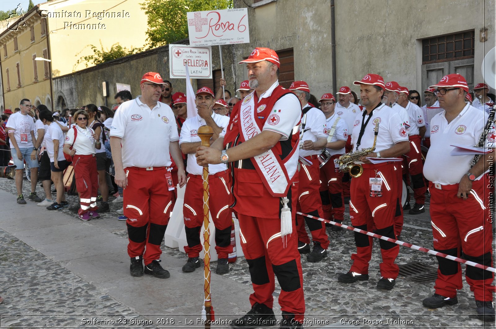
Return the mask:
[[[397,174],[394,172],[394,163],[384,163],[378,165],[364,164],[364,172],[360,177],[354,178],[351,184],[351,204],[350,215],[353,226],[366,225],[372,226],[372,223],[377,229],[386,228],[394,225],[394,213],[396,211],[397,199]],[[381,173],[382,196],[370,196],[369,178],[376,177],[375,171]],[[377,177],[381,177],[377,175]],[[387,183],[387,184],[386,184]],[[386,186],[389,186],[389,190]],[[356,210],[354,210],[354,209]],[[373,216],[372,216],[373,214]],[[394,235],[392,233],[391,235]],[[394,238],[394,236],[389,236]],[[364,248],[364,249],[361,249]],[[359,250],[360,249],[360,250]],[[382,255],[382,263],[380,264],[381,275],[387,278],[395,279],[398,276],[398,266],[394,264],[399,246],[396,245],[391,249],[380,249]],[[368,247],[357,248],[357,254],[353,255],[352,272],[362,273],[366,264],[369,263],[372,255],[372,244]]]

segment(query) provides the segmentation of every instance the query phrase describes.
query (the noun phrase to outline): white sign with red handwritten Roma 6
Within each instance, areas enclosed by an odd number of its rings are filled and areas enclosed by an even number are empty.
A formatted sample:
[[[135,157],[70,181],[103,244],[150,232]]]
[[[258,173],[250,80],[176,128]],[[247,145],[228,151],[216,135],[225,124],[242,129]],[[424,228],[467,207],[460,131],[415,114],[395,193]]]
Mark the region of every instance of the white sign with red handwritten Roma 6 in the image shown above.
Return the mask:
[[[249,43],[248,8],[191,11],[187,23],[191,46]]]

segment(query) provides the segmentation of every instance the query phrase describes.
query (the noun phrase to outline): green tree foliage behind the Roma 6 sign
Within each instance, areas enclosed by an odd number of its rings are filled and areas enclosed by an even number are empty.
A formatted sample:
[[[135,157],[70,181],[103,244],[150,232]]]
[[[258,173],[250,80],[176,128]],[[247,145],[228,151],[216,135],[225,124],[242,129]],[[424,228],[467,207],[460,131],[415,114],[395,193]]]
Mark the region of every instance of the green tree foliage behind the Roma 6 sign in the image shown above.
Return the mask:
[[[188,37],[186,12],[233,7],[233,0],[145,0],[140,3],[148,16],[146,41],[150,48]]]

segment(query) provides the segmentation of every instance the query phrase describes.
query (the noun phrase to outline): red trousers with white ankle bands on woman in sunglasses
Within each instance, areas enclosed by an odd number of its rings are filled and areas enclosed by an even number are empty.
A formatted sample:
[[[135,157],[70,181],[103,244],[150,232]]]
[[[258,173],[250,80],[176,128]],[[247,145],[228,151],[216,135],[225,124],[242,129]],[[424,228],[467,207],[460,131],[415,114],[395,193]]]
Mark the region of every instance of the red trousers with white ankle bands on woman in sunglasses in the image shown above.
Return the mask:
[[[74,156],[74,178],[76,188],[79,192],[80,205],[78,214],[82,215],[98,207],[91,206],[96,202],[98,196],[98,171],[96,170],[96,158],[92,155]]]

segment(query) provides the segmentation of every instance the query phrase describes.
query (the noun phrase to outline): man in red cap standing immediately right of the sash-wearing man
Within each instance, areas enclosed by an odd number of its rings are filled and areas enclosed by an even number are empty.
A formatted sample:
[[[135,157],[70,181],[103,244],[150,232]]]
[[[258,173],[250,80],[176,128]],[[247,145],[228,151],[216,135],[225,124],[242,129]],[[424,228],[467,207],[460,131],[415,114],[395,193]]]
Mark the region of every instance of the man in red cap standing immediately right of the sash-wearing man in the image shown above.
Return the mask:
[[[320,169],[318,167],[318,155],[327,144],[327,126],[325,115],[321,110],[311,106],[310,87],[305,81],[295,81],[289,87],[300,100],[302,105],[302,131],[300,131],[300,153],[299,156],[307,159],[311,165],[300,162],[299,184],[298,184],[298,205],[297,211],[316,216],[324,217],[322,211],[322,201],[320,200]],[[307,256],[309,262],[318,262],[327,255],[329,238],[325,232],[324,222],[301,215],[296,216],[296,229],[298,231],[298,250],[300,253],[310,251],[310,239],[305,229],[307,223],[313,240],[313,249]]]

